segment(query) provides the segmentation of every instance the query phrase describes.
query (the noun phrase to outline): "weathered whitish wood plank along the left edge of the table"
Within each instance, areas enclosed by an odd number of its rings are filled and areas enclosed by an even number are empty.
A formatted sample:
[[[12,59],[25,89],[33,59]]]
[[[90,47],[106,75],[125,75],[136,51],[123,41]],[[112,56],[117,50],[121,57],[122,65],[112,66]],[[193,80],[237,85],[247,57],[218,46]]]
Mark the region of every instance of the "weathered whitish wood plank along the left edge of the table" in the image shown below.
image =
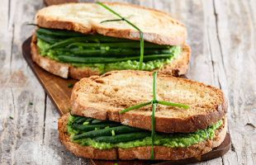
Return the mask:
[[[24,23],[33,19],[40,3],[5,0],[0,6],[0,164],[35,164],[36,148],[32,144],[42,143],[45,92],[31,76],[20,47],[31,33],[31,27]]]

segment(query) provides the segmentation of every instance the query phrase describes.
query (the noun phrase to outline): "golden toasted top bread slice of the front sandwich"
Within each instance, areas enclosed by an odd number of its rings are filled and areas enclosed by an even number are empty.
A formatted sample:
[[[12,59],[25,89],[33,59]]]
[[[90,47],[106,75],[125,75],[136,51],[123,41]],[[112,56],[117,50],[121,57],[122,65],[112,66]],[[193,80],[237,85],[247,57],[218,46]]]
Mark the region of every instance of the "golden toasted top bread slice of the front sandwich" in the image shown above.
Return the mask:
[[[83,78],[71,95],[71,113],[100,120],[114,120],[151,130],[152,106],[119,114],[119,111],[151,101],[153,73],[145,71],[111,71],[102,76]],[[183,103],[189,109],[158,105],[155,130],[164,133],[195,132],[221,120],[227,105],[223,92],[184,78],[160,74],[157,79],[158,100]]]

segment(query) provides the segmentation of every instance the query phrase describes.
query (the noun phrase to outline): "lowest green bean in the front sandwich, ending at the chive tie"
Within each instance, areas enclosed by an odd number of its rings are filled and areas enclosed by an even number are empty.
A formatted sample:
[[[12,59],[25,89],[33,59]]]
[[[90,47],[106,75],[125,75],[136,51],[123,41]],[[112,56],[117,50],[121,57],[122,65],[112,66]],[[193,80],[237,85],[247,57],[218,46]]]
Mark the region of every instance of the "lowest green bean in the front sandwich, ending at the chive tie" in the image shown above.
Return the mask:
[[[117,144],[121,142],[133,141],[135,139],[144,139],[145,137],[150,136],[150,132],[135,132],[129,134],[119,134],[115,136],[101,136],[95,138],[97,142],[105,142],[111,144]]]

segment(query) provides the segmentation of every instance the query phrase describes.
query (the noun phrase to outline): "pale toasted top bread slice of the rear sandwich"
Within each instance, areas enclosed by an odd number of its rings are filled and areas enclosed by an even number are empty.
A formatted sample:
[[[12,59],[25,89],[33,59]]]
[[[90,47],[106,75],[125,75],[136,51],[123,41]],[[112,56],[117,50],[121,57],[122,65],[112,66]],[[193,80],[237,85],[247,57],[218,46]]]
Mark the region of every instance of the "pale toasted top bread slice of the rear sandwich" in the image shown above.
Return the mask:
[[[159,45],[183,45],[187,30],[183,24],[164,12],[128,3],[104,2],[144,32],[144,39]],[[41,27],[78,31],[140,40],[140,32],[96,3],[68,3],[45,7],[36,14]]]

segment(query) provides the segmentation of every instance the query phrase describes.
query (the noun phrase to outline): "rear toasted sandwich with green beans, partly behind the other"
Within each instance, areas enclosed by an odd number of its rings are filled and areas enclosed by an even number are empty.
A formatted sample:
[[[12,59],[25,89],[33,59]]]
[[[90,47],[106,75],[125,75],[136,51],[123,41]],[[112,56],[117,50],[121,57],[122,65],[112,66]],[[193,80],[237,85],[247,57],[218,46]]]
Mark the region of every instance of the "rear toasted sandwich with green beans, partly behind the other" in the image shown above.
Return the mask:
[[[36,26],[32,59],[62,78],[125,69],[187,72],[186,27],[164,12],[118,2],[67,3],[40,9]]]

